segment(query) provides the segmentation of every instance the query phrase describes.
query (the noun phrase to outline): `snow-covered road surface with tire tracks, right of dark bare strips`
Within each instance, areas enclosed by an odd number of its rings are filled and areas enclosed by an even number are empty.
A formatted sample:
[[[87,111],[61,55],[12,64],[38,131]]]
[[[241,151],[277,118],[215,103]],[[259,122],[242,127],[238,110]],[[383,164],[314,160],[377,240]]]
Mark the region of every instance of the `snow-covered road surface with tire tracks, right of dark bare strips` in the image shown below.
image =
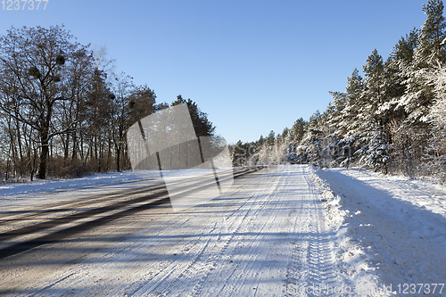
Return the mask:
[[[141,211],[2,260],[1,293],[282,296],[339,284],[307,169],[260,170],[193,209]]]

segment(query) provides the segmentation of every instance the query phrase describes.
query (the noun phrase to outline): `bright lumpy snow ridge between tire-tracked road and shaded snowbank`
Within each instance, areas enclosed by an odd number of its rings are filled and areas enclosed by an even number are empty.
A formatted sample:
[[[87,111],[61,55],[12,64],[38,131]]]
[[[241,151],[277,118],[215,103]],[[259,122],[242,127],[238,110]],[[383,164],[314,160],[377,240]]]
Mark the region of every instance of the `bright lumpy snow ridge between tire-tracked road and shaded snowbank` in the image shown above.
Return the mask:
[[[311,178],[322,192],[323,202],[326,207],[326,224],[335,232],[335,255],[340,271],[354,293],[359,296],[384,296],[385,287],[375,274],[375,269],[370,265],[369,258],[379,257],[366,251],[351,232],[351,224],[346,222],[346,217],[360,218],[360,211],[351,214],[343,208],[342,198],[336,195],[325,180],[318,177],[316,167],[310,167]],[[360,220],[360,219],[359,219]]]

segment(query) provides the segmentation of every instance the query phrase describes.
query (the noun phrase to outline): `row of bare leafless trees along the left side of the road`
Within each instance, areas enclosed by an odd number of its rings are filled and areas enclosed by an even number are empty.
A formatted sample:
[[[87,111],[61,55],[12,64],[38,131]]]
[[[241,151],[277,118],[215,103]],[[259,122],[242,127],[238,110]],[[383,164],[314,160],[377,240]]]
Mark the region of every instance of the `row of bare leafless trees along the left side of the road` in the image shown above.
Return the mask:
[[[104,57],[60,26],[12,27],[0,36],[0,177],[130,169],[127,129],[180,103],[197,136],[215,133],[191,99],[157,103],[153,89],[113,73]]]

